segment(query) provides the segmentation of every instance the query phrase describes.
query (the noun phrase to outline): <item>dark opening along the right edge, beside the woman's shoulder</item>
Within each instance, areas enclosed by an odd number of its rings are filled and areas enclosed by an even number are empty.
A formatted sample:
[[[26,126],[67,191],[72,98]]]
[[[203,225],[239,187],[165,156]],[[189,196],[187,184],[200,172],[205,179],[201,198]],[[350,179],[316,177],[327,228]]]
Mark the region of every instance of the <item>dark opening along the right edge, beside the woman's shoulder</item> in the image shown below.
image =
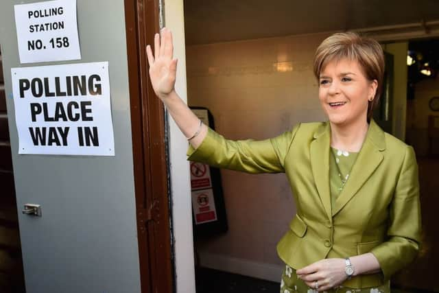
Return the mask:
[[[407,287],[437,292],[437,274],[429,268],[439,265],[434,253],[434,247],[439,246],[439,39],[410,41],[407,67],[406,142],[413,145],[419,165],[423,248],[414,265],[399,277]]]

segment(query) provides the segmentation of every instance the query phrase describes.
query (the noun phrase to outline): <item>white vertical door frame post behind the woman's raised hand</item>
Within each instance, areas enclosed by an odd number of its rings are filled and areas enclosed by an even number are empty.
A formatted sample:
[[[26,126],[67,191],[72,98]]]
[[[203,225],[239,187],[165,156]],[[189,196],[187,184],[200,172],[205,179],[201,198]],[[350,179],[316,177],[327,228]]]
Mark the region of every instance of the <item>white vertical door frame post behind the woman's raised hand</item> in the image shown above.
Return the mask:
[[[186,101],[185,19],[182,0],[165,1],[165,26],[173,34],[174,56],[178,58],[176,91]],[[177,293],[195,292],[193,265],[192,209],[187,140],[174,120],[169,121],[172,222]]]

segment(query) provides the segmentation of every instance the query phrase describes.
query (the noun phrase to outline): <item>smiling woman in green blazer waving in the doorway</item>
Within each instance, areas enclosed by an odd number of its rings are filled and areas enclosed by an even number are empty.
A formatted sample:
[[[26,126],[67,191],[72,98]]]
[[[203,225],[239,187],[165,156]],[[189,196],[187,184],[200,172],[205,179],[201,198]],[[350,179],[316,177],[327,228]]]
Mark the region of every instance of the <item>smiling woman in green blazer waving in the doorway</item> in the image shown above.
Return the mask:
[[[254,141],[225,139],[178,97],[171,32],[147,47],[156,95],[189,140],[189,160],[248,173],[285,172],[297,215],[277,245],[281,293],[389,292],[390,277],[418,253],[420,204],[414,150],[372,119],[383,84],[379,43],[333,34],[313,71],[328,120]]]

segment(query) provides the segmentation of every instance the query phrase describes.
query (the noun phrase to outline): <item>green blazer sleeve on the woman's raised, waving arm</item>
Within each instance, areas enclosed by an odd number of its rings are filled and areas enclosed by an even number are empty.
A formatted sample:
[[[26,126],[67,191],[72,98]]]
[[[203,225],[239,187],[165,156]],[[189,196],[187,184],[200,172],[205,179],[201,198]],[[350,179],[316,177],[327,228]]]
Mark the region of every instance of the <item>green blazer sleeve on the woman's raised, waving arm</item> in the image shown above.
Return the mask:
[[[285,172],[285,156],[299,126],[300,124],[278,137],[262,141],[224,139],[209,128],[196,150],[189,145],[187,159],[252,174]]]

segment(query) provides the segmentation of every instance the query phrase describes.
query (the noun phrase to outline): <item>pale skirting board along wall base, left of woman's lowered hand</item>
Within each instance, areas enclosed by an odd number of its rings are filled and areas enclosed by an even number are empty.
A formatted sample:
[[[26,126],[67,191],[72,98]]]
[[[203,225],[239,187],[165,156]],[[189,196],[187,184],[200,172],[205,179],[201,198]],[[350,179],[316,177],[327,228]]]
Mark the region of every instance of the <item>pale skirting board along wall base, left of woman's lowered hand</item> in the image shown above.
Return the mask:
[[[253,277],[281,283],[283,266],[248,261],[227,255],[215,255],[200,252],[200,265],[204,268],[213,268],[224,272],[233,272],[244,276]]]

